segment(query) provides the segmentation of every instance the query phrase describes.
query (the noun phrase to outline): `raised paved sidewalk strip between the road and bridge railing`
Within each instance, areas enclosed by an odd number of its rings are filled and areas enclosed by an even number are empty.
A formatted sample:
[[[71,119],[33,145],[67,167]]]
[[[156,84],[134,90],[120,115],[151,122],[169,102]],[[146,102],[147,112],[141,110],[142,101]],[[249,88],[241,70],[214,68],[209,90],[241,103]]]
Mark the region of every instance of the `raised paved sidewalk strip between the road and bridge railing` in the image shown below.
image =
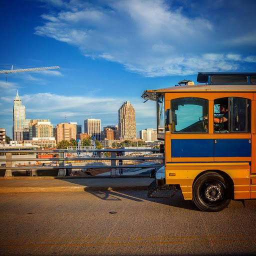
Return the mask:
[[[146,190],[153,181],[149,177],[0,178],[0,193],[7,192],[65,192],[102,190]]]

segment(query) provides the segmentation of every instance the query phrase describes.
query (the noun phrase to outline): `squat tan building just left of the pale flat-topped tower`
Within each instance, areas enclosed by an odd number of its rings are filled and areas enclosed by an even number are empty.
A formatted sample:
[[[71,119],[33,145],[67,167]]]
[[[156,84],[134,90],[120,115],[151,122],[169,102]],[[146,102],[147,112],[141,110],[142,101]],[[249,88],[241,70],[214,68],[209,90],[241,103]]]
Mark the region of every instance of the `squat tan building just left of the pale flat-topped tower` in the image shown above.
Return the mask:
[[[76,128],[73,124],[62,122],[58,123],[55,127],[56,143],[61,140],[69,141],[70,138],[76,139]]]

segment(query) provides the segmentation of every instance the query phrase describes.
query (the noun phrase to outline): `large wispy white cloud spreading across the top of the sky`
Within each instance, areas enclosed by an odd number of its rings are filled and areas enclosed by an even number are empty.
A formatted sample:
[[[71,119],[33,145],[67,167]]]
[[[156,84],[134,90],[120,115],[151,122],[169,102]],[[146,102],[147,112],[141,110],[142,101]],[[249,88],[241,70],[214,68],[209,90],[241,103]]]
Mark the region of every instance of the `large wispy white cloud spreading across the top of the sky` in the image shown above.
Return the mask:
[[[35,34],[76,45],[86,57],[118,62],[144,76],[193,74],[198,67],[234,71],[240,68],[242,56],[221,53],[221,45],[255,42],[254,35],[224,39],[222,33],[226,30],[215,27],[209,16],[203,18],[204,13],[199,11],[193,14],[174,8],[171,1],[108,0],[104,7],[101,1],[54,4],[62,8],[55,14],[43,14],[45,23],[35,28]],[[223,2],[211,6],[219,10]],[[237,8],[235,4],[232,7]],[[220,53],[212,53],[212,48]]]

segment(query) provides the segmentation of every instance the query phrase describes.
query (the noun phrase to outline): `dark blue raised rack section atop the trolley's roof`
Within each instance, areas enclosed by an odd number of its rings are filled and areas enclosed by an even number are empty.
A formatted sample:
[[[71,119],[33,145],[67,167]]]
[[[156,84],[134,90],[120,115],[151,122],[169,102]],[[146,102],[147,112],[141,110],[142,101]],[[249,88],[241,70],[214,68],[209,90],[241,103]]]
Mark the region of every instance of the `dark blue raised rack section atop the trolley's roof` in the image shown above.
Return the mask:
[[[198,72],[196,81],[208,84],[256,84],[256,72]]]

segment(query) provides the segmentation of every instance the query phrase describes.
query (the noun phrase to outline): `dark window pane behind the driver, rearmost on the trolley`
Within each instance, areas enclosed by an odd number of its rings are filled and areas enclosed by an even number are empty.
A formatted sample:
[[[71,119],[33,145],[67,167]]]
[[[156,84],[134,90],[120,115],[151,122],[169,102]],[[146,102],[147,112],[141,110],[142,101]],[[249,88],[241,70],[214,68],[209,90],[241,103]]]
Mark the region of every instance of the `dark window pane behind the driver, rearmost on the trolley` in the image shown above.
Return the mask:
[[[229,97],[228,106],[230,132],[250,132],[250,100]]]

